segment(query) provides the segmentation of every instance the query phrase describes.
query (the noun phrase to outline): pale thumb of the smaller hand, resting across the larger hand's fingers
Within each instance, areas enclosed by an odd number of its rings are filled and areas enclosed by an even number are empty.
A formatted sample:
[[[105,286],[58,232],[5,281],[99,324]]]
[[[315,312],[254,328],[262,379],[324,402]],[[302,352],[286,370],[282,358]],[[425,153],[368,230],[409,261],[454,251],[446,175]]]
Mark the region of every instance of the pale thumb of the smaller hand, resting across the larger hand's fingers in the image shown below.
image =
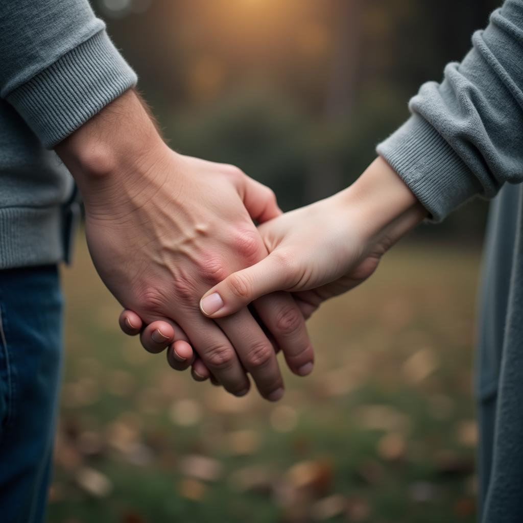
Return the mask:
[[[233,272],[207,291],[200,310],[212,318],[228,316],[260,296],[292,286],[290,270],[277,254],[269,254],[257,264]]]

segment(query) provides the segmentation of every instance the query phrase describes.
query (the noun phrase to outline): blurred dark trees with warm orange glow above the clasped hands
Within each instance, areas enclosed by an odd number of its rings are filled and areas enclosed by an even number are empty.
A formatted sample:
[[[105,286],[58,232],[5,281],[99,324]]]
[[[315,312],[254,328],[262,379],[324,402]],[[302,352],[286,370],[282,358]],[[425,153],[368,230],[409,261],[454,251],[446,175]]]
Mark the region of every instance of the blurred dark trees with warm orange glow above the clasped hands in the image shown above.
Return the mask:
[[[439,81],[444,65],[462,58],[472,31],[500,3],[97,0],[95,7],[173,146],[240,165],[274,185],[288,208],[351,183],[376,143],[408,117],[419,85]],[[287,106],[299,116],[289,119]],[[480,232],[484,208],[465,207],[438,233]]]

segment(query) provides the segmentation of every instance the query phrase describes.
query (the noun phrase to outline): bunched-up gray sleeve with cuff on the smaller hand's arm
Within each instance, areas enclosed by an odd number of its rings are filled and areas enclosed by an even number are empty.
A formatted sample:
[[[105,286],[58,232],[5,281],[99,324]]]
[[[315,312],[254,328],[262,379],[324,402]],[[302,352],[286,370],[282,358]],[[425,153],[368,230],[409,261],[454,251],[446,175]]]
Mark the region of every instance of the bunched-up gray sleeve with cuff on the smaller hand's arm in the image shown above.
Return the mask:
[[[523,181],[523,0],[495,10],[472,44],[441,84],[422,85],[411,118],[377,147],[435,221]]]

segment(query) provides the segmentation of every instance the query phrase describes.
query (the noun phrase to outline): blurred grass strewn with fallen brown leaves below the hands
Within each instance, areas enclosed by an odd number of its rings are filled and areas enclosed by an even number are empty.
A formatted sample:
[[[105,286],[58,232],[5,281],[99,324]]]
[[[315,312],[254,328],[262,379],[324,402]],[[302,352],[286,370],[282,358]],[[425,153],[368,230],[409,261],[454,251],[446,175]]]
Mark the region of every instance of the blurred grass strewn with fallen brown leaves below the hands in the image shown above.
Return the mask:
[[[310,320],[277,405],[171,370],[119,332],[78,240],[49,521],[474,521],[477,249],[403,244]]]

